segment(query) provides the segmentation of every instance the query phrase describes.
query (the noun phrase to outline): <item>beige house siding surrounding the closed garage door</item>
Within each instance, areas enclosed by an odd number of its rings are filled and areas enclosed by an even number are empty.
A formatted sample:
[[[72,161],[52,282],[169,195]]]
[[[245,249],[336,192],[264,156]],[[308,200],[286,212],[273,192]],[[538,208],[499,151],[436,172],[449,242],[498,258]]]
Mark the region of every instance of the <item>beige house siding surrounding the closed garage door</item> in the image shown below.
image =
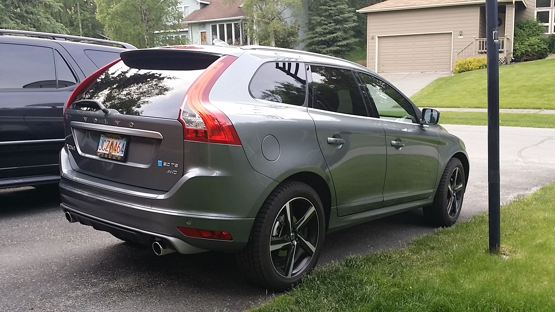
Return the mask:
[[[460,51],[478,34],[480,6],[452,6],[442,8],[408,9],[372,12],[368,16],[367,67],[376,69],[376,36],[453,32],[452,63],[455,51]],[[464,38],[458,38],[459,32]]]

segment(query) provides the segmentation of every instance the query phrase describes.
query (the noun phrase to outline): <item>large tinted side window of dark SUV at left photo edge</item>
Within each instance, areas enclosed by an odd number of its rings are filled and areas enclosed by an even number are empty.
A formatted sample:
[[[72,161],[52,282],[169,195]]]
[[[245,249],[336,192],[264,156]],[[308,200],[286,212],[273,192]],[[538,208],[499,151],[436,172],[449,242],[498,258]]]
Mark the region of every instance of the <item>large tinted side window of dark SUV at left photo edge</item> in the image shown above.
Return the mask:
[[[0,88],[56,88],[52,48],[0,43]]]

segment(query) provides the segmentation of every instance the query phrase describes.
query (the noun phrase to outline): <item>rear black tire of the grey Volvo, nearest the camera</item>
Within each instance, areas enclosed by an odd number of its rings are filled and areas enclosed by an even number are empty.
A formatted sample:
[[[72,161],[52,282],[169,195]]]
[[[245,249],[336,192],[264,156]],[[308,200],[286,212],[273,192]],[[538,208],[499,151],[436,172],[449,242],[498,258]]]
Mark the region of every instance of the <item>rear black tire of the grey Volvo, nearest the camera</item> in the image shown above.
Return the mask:
[[[307,208],[305,211],[303,206],[308,204],[304,200],[308,200],[314,209]],[[286,206],[286,204],[288,205]],[[297,206],[296,210],[294,210],[294,205]],[[289,211],[291,212],[290,215],[292,215],[292,221],[289,225],[280,223],[280,220],[283,221],[282,218],[284,218],[284,209],[286,207],[291,207]],[[301,217],[297,217],[295,213],[301,215]],[[307,215],[310,215],[310,217],[306,218],[307,221],[301,222]],[[314,219],[314,215],[316,215],[317,219]],[[298,229],[296,228],[297,225],[299,225]],[[305,231],[305,227],[310,227],[311,233],[308,233],[308,229]],[[291,234],[288,237],[279,238],[282,235],[287,235],[282,233],[286,233],[289,228],[292,229]],[[298,232],[299,229],[306,233]],[[275,235],[278,233],[278,230],[279,234]],[[294,234],[295,232],[297,234]],[[324,245],[324,233],[324,208],[318,194],[305,183],[286,181],[278,185],[262,205],[251,230],[249,242],[237,255],[239,266],[243,273],[255,284],[276,291],[287,290],[314,269]],[[306,244],[306,241],[309,239],[302,238],[305,235],[307,237],[310,235],[312,238],[310,244],[312,245]],[[316,239],[314,239],[315,235],[317,235]],[[301,239],[301,243],[299,243],[299,239]],[[282,244],[286,245],[282,246],[282,249],[275,250],[277,245],[281,245],[276,244],[278,240],[284,241]],[[272,241],[274,244],[270,246]],[[290,243],[287,243],[287,241],[290,241]],[[314,242],[316,243],[313,244]],[[300,248],[298,251],[296,251],[297,246]],[[308,249],[312,250],[314,247],[315,250],[313,251],[305,251]],[[274,250],[271,250],[271,248],[274,248]],[[286,256],[280,256],[285,251]],[[299,260],[289,261],[291,258],[295,259],[296,253],[299,253],[297,255]],[[292,255],[291,258],[289,258],[290,254]],[[301,259],[302,256],[306,258]],[[281,261],[283,258],[286,258],[286,260]],[[291,265],[284,264],[284,268],[287,269],[280,269],[280,261],[281,264],[291,263]],[[295,274],[292,274],[295,266],[299,267],[299,269]],[[289,273],[285,273],[286,271]]]

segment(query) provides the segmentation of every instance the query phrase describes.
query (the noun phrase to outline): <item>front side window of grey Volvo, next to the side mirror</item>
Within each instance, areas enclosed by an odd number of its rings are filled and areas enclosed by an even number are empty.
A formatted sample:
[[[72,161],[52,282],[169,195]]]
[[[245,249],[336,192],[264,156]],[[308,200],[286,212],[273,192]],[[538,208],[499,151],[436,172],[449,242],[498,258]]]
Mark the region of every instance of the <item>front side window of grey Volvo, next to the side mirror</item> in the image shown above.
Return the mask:
[[[376,105],[380,118],[410,123],[416,120],[411,103],[391,85],[367,74],[361,73],[360,77],[368,88],[369,97]]]

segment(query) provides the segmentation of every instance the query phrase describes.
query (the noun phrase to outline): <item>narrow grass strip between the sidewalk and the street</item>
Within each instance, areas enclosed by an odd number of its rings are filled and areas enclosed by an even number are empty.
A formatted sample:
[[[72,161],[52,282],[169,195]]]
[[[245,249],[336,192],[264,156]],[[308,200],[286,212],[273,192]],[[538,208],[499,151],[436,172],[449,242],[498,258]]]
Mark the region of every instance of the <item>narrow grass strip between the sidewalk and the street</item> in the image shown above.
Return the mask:
[[[441,112],[440,124],[487,125],[487,113]],[[499,113],[499,125],[508,127],[555,128],[555,114]]]

